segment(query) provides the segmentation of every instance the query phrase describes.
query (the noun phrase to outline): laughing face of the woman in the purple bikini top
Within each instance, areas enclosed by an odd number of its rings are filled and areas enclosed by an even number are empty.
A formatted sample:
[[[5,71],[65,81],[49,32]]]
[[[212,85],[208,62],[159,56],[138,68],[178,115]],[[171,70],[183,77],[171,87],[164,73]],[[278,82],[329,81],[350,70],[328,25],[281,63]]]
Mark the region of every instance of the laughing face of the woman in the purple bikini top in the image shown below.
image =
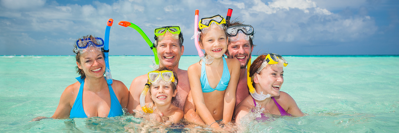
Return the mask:
[[[256,91],[259,94],[263,91],[263,94],[280,96],[280,88],[284,82],[283,73],[282,66],[270,64],[263,68],[259,74],[255,73],[253,82]]]

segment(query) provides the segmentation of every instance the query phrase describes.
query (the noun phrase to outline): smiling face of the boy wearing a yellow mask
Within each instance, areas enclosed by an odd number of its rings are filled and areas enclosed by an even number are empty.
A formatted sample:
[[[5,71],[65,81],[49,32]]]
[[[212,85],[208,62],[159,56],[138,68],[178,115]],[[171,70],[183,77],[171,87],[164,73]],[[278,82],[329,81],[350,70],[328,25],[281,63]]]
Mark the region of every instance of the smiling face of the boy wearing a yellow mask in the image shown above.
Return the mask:
[[[165,85],[164,80],[150,86],[151,99],[157,107],[170,105],[176,94],[176,86],[173,83]]]

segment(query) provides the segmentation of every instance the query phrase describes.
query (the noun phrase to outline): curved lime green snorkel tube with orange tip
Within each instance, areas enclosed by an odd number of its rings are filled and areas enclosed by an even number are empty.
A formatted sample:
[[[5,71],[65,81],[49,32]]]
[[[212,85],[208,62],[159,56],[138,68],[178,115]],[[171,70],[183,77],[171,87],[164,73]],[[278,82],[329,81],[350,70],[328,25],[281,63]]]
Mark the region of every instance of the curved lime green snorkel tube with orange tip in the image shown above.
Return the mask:
[[[130,22],[127,22],[127,21],[120,21],[118,24],[123,26],[123,27],[132,27],[133,29],[136,29],[136,31],[138,33],[140,33],[140,35],[143,37],[143,39],[148,43],[148,46],[150,46],[150,49],[152,50],[152,53],[154,53],[155,63],[153,65],[150,65],[150,67],[154,68],[154,70],[158,69],[159,68],[159,59],[158,59],[158,54],[156,52],[156,47],[154,46],[154,43],[152,43],[150,41],[150,39],[148,38],[146,33],[144,33],[144,31],[142,29],[140,29],[140,27],[138,27],[134,23],[130,23]]]

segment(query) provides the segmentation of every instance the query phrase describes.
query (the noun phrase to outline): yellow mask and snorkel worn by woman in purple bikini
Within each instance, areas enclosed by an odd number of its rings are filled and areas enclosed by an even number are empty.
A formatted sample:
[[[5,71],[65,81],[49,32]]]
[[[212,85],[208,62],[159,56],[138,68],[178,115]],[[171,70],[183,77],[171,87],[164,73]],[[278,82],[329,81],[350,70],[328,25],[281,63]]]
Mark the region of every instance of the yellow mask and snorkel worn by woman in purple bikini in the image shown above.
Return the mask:
[[[257,73],[261,72],[261,70],[263,68],[265,68],[267,64],[271,64],[271,65],[278,64],[279,59],[284,61],[283,66],[288,65],[288,62],[285,61],[285,59],[281,55],[270,53],[265,57],[265,61],[262,63],[262,66],[258,68]],[[263,92],[261,92],[261,94],[258,94],[255,91],[255,88],[252,85],[252,78],[249,76],[249,68],[251,68],[251,58],[249,58],[248,65],[247,65],[247,85],[248,85],[249,92],[250,92],[251,96],[254,99],[259,100],[259,101],[265,100],[266,98],[270,98],[270,96],[271,96],[270,94],[265,95],[265,94],[263,94]]]

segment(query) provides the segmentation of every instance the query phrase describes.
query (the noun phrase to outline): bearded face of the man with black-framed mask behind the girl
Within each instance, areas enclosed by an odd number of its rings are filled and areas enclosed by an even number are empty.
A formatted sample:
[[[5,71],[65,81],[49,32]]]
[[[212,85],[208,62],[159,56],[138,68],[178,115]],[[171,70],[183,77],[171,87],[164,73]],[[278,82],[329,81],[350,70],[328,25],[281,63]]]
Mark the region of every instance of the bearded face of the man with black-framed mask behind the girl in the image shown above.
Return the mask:
[[[238,41],[229,41],[225,54],[229,59],[238,59],[242,69],[247,67],[249,58],[251,58],[252,50],[253,46],[251,47],[249,40],[241,39]]]

